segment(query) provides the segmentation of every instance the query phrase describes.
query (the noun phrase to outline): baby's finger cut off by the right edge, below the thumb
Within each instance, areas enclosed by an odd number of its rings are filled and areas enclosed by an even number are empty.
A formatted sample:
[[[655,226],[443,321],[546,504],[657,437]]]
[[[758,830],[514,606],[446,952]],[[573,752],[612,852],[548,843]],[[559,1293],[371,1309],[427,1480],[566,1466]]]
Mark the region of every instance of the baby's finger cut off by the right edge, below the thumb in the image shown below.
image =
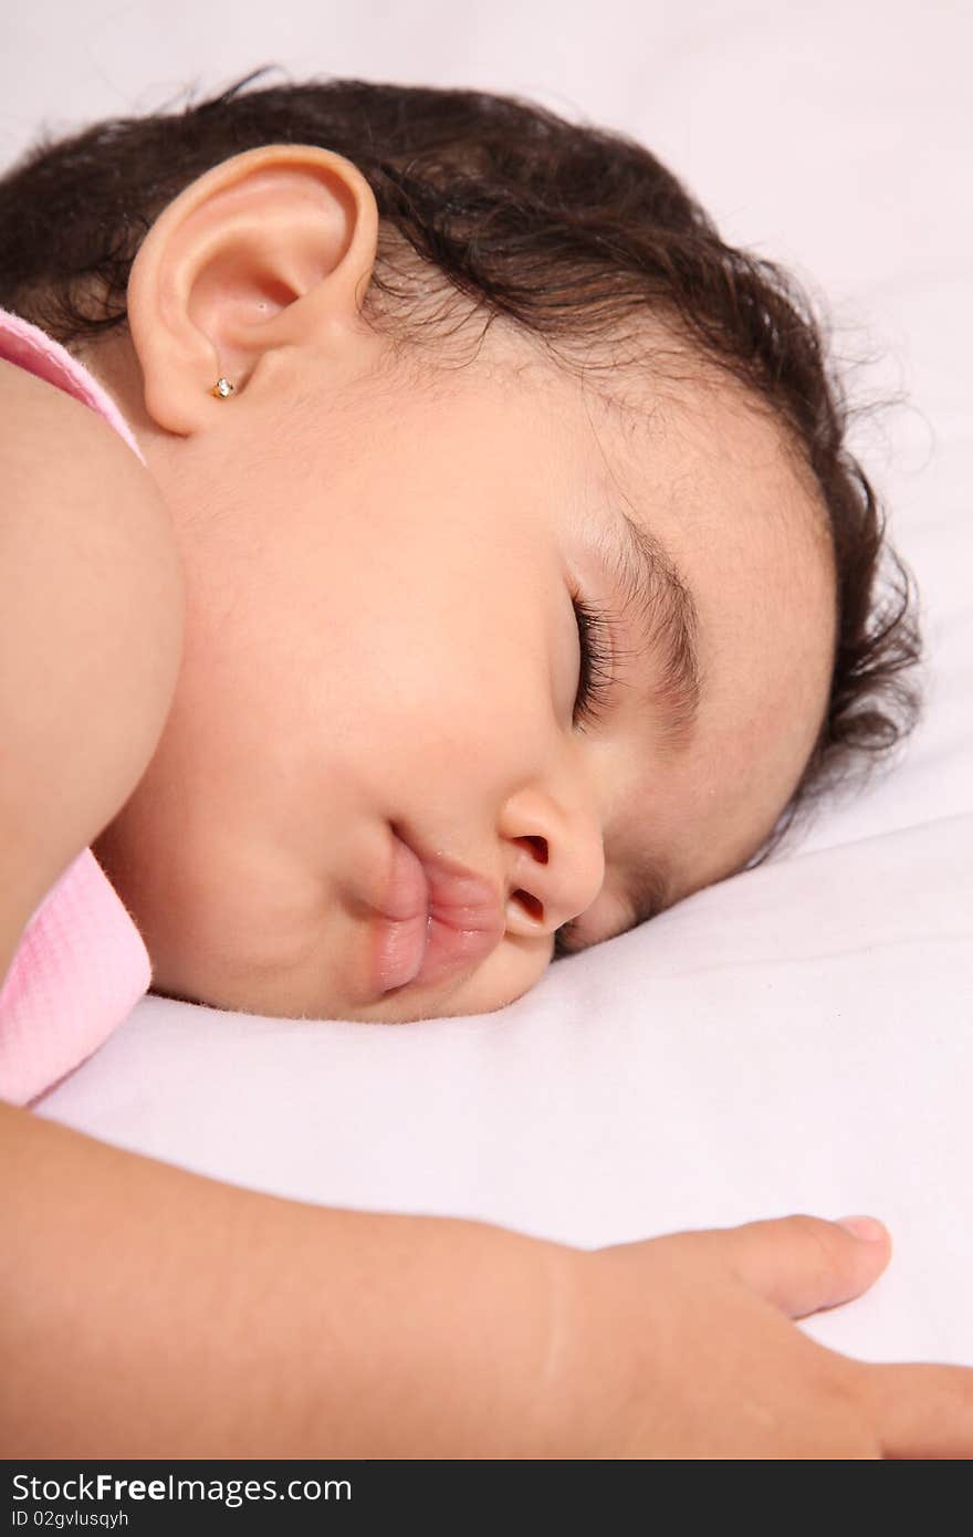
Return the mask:
[[[859,1371],[885,1459],[973,1457],[971,1369],[861,1365]]]

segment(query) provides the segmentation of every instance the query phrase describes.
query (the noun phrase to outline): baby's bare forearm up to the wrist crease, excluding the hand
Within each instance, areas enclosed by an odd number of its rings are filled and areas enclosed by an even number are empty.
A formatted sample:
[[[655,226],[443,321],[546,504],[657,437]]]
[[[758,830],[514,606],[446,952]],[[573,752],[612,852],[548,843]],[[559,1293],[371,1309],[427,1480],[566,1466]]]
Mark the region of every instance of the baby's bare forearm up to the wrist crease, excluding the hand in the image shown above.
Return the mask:
[[[0,1168],[6,1457],[541,1454],[555,1245],[278,1200],[9,1107]]]

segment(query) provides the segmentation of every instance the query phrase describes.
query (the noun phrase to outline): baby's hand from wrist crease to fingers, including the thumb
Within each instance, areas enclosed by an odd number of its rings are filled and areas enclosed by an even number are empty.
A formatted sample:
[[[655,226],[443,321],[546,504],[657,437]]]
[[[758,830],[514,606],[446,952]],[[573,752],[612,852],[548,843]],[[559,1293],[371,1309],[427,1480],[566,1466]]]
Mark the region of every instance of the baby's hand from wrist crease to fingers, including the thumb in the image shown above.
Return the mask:
[[[875,1231],[796,1216],[563,1251],[547,1456],[973,1456],[973,1371],[865,1365],[789,1322],[872,1285]]]

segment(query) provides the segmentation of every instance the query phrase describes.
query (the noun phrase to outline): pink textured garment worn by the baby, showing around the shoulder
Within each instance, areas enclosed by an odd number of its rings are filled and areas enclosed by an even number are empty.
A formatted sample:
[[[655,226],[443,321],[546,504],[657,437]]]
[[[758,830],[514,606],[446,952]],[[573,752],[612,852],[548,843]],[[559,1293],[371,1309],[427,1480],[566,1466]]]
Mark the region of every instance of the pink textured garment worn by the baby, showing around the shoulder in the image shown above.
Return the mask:
[[[105,417],[144,464],[108,390],[60,343],[6,309],[0,358]],[[25,1105],[51,1088],[128,1019],[151,981],[144,941],[85,848],[31,915],[0,988],[0,1099]]]

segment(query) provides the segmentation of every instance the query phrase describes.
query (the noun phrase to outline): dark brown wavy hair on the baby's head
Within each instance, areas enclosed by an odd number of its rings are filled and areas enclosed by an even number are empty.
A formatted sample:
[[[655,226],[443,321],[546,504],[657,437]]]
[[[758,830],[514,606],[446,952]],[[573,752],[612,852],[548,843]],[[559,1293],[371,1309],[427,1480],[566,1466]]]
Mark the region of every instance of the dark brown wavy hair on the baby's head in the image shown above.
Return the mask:
[[[853,412],[825,323],[792,277],[726,244],[676,177],[619,132],[481,91],[324,78],[246,92],[266,68],[178,112],[42,132],[0,178],[0,306],[68,347],[125,327],[134,257],[166,204],[229,155],[300,143],[347,157],[375,194],[363,317],[397,340],[446,346],[464,295],[487,324],[507,317],[566,366],[558,343],[598,340],[621,366],[626,324],[635,338],[652,312],[773,412],[827,509],[830,698],[802,778],[746,868],[761,864],[798,813],[870,778],[922,710],[915,675],[902,676],[921,659],[915,578],[845,447]]]

